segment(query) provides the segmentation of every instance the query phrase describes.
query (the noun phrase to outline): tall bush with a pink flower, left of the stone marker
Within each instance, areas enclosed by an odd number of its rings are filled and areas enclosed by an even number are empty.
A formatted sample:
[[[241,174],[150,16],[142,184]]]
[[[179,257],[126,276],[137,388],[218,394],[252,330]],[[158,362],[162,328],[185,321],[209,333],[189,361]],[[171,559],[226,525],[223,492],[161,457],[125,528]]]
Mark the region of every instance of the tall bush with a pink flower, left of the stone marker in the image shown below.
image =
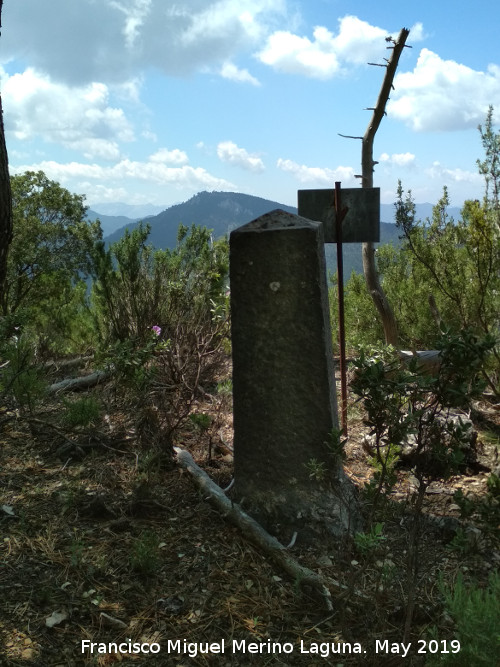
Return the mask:
[[[159,437],[170,443],[224,356],[228,247],[194,225],[179,227],[173,250],[155,250],[148,235],[139,225],[109,249],[97,246],[93,303],[101,357],[144,408],[156,408]]]

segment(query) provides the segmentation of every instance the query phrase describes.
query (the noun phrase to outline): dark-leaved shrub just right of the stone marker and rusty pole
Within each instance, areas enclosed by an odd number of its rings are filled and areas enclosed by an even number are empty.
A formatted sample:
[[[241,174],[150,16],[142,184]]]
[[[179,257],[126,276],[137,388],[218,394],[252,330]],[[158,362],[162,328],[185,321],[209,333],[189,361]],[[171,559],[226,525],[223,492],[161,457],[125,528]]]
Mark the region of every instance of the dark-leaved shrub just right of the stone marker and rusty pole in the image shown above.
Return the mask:
[[[412,442],[406,461],[421,488],[458,470],[468,442],[468,425],[449,418],[481,391],[481,363],[494,344],[470,331],[443,333],[437,342],[441,363],[437,375],[426,374],[417,359],[405,366],[394,351],[354,361],[351,387],[364,404],[366,425],[374,441],[377,473],[375,498],[394,483],[399,448]]]

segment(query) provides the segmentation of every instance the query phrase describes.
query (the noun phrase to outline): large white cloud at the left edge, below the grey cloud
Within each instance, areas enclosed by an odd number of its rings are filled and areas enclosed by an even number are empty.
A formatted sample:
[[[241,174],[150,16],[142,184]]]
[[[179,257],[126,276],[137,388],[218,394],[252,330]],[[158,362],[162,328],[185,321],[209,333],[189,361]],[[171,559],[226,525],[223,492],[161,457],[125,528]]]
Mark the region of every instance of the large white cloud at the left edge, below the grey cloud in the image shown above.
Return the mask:
[[[105,160],[119,159],[119,142],[134,140],[132,125],[122,109],[110,106],[103,83],[70,88],[32,68],[10,77],[3,72],[3,79],[6,131],[16,139],[41,136]]]

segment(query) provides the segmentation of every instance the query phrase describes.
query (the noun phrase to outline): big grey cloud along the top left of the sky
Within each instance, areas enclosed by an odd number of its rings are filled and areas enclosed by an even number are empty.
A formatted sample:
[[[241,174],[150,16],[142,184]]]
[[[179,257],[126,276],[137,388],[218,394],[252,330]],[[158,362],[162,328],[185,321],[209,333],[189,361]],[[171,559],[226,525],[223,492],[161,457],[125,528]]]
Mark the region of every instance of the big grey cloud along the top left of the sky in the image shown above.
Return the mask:
[[[72,85],[122,83],[148,67],[185,76],[255,49],[286,9],[286,0],[10,2],[3,62],[18,59]]]

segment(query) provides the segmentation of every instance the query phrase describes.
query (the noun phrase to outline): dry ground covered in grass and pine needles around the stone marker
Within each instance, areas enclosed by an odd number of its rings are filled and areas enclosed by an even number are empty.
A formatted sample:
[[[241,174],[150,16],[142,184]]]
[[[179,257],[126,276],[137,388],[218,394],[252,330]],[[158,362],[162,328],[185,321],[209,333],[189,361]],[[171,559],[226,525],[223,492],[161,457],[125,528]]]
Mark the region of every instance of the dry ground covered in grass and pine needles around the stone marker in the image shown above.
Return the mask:
[[[304,565],[335,578],[346,593],[333,613],[299,594],[264,555],[225,522],[175,465],[136,438],[128,414],[109,388],[94,390],[107,417],[64,435],[60,406],[45,405],[38,422],[4,415],[0,436],[2,525],[0,655],[4,665],[399,665],[400,655],[377,655],[376,640],[401,642],[407,589],[411,480],[406,473],[384,509],[384,538],[366,553],[353,542],[294,547]],[[221,486],[232,476],[227,404],[205,395],[194,406],[212,416],[208,429],[187,422],[177,443],[187,447]],[[346,468],[361,487],[371,472],[361,448],[362,415],[351,411]],[[45,424],[45,426],[44,426]],[[58,427],[59,428],[59,427]],[[80,446],[61,450],[65,439]],[[67,444],[67,442],[66,442]],[[209,449],[212,450],[208,460]],[[64,456],[61,458],[61,451]],[[484,461],[496,443],[488,442]],[[58,454],[59,452],[59,454]],[[484,493],[486,475],[435,484],[427,513],[458,516],[459,486]],[[453,638],[437,590],[440,575],[457,572],[487,580],[498,552],[481,533],[470,549],[450,548],[452,535],[429,525],[423,536],[412,641],[438,625]],[[496,561],[495,561],[496,559]],[[360,598],[355,591],[362,591]],[[65,619],[49,628],[54,612]],[[223,655],[167,651],[168,641],[226,642]],[[158,656],[82,654],[81,642],[157,642]],[[232,653],[233,640],[292,645],[289,654]],[[317,644],[359,642],[362,655],[329,659],[302,653]],[[424,664],[416,651],[407,665]],[[493,664],[493,663],[492,663]]]

